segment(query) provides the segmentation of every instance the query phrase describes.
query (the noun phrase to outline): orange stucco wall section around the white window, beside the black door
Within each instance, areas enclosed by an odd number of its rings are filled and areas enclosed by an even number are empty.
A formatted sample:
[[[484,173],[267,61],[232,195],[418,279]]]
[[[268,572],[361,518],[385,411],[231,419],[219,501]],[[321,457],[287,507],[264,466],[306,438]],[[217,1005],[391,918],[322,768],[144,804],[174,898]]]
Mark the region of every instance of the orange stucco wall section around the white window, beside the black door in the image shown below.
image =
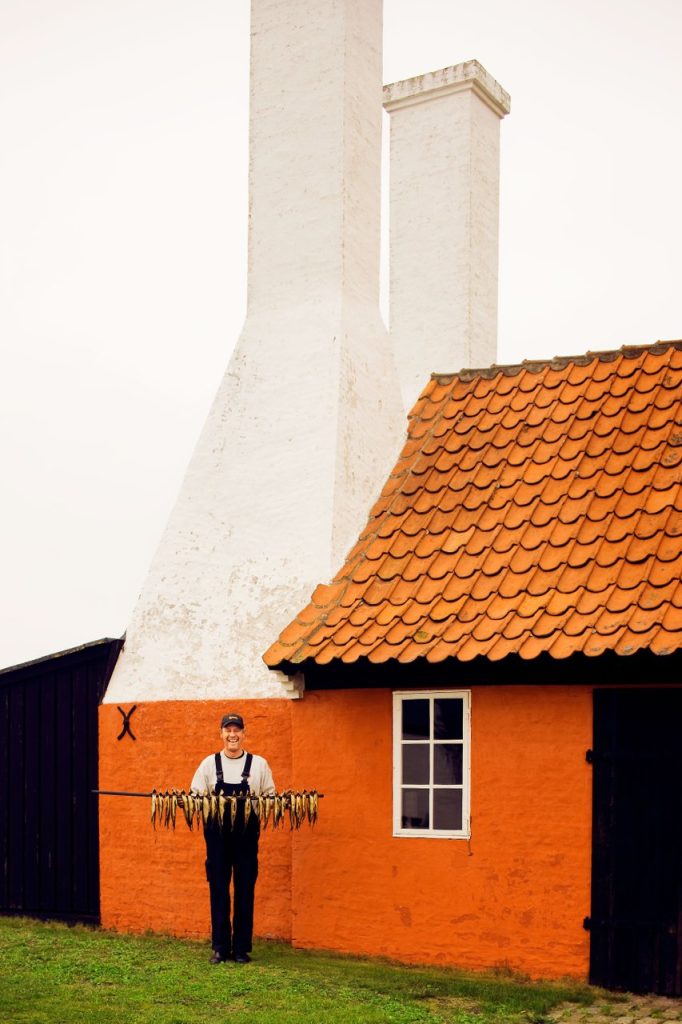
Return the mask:
[[[316,765],[327,794],[314,840],[294,837],[297,944],[587,977],[591,690],[472,691],[470,842],[391,837],[388,690],[295,711],[294,772]]]

